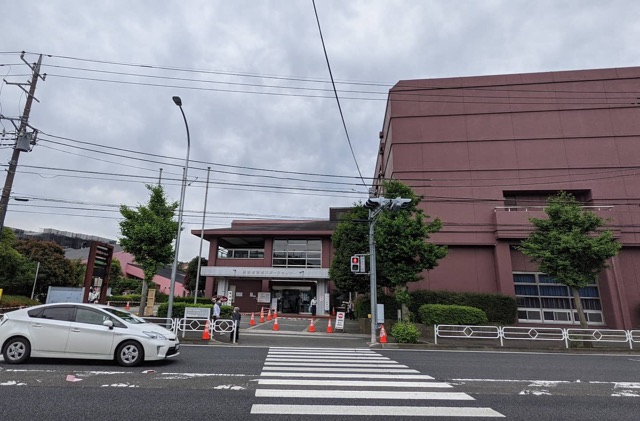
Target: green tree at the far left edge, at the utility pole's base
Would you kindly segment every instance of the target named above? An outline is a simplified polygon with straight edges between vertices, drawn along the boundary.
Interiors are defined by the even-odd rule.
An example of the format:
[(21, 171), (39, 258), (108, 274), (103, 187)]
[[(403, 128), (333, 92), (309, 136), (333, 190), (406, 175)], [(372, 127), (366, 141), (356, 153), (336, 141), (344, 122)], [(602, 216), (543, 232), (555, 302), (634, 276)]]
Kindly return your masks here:
[(5, 294), (29, 297), (37, 264), (20, 254), (15, 245), (15, 233), (11, 228), (4, 227), (0, 239), (0, 288)]

